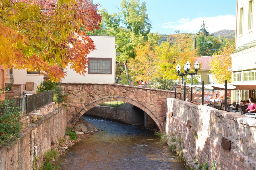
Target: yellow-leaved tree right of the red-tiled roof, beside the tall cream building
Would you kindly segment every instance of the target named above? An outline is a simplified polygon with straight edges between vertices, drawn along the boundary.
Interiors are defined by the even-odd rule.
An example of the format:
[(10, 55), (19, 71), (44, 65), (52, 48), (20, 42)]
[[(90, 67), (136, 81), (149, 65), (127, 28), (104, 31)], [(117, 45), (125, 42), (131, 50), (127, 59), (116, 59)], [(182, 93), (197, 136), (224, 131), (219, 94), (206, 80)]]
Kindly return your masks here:
[(231, 82), (231, 73), (228, 72), (228, 67), (231, 67), (231, 56), (235, 50), (234, 39), (228, 41), (224, 48), (218, 53), (213, 55), (213, 59), (210, 61), (210, 68), (212, 72), (212, 77), (217, 83), (224, 83), (225, 80), (228, 83)]

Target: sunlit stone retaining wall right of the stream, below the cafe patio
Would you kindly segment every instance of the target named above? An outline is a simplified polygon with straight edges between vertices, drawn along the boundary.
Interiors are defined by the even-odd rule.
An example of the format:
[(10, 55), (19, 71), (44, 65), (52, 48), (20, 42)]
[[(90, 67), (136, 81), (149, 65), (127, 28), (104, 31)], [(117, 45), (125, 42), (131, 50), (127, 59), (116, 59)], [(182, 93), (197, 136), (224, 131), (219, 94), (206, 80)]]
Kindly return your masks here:
[[(256, 168), (254, 118), (178, 99), (169, 98), (167, 103), (168, 144), (176, 143), (176, 146), (183, 148), (183, 158), (191, 168), (197, 169), (207, 159), (209, 166), (216, 160), (217, 169), (222, 170)], [(188, 120), (192, 122), (191, 128), (187, 127)], [(230, 150), (222, 148), (222, 137), (231, 140)], [(173, 143), (173, 139), (176, 142)]]

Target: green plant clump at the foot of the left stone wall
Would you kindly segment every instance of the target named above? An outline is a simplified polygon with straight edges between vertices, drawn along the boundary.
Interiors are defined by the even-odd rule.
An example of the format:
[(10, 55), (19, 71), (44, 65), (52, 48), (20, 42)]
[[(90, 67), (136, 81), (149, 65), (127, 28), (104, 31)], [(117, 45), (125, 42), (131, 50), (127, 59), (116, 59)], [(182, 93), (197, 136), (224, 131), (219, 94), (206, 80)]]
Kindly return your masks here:
[(44, 160), (41, 166), (41, 170), (55, 170), (57, 166), (53, 164), (53, 159), (57, 159), (59, 154), (56, 150), (49, 150), (48, 152), (44, 153)]

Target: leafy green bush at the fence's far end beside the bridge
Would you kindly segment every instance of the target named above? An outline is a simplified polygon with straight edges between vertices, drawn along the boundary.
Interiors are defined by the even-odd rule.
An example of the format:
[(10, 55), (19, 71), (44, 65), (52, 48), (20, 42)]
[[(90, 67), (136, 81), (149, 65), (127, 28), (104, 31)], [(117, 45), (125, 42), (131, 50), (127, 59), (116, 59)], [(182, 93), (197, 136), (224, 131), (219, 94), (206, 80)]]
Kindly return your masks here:
[(67, 102), (68, 94), (63, 94), (60, 82), (42, 81), (37, 86), (37, 93), (53, 90), (53, 101), (55, 103)]

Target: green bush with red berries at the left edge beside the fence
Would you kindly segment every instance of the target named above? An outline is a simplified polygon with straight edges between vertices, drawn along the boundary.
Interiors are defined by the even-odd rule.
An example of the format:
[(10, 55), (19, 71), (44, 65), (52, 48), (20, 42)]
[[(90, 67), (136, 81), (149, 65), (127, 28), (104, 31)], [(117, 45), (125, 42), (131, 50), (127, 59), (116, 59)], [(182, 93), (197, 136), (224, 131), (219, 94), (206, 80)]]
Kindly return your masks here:
[(20, 137), (22, 124), (19, 120), (19, 109), (9, 100), (2, 101), (0, 107), (3, 112), (0, 116), (0, 145), (10, 145)]

